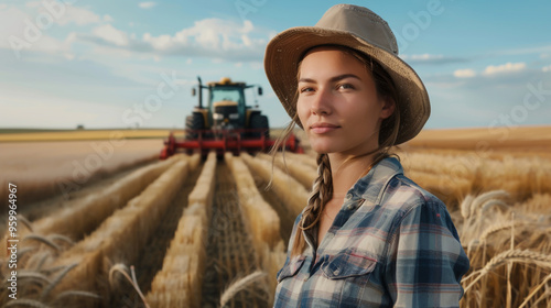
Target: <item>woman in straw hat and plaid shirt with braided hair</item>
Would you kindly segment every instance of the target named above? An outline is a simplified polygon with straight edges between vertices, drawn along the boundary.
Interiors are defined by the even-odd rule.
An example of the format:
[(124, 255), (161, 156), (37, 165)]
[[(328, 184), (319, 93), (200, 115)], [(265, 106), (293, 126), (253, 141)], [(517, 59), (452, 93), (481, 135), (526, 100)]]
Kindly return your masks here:
[(318, 153), (274, 306), (458, 307), (468, 258), (450, 213), (389, 155), (419, 133), (430, 103), (387, 23), (335, 6), (273, 37), (264, 68)]

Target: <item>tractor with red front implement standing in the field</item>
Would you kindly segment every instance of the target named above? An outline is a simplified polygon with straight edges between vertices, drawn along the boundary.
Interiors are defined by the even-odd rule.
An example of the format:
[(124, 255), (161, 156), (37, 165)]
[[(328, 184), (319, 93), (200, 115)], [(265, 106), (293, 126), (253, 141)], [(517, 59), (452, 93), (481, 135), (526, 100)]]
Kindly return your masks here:
[[(228, 77), (206, 86), (202, 84), (201, 77), (197, 80), (198, 86), (192, 89), (192, 95), (198, 96), (198, 105), (185, 119), (185, 138), (177, 140), (171, 132), (161, 151), (161, 160), (174, 155), (179, 150), (188, 154), (197, 152), (203, 156), (210, 151), (222, 156), (226, 152), (238, 155), (241, 151), (253, 154), (271, 150), (276, 142), (270, 138), (268, 117), (261, 114), (258, 107), (248, 106), (245, 98), (245, 91), (252, 88), (261, 96), (260, 86), (236, 82)], [(203, 107), (204, 89), (208, 95), (206, 107)], [(294, 134), (280, 146), (303, 153)]]

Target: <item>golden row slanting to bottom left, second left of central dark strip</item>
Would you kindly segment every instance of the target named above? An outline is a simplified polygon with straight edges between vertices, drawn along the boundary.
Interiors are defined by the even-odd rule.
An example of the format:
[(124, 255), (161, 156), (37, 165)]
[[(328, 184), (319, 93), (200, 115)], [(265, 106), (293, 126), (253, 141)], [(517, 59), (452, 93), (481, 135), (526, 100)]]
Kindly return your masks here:
[[(110, 216), (89, 238), (66, 251), (54, 266), (77, 264), (54, 289), (53, 294), (79, 289), (97, 293), (109, 302), (107, 275), (116, 263), (132, 264), (151, 231), (160, 223), (185, 176), (199, 163), (198, 155), (180, 156), (177, 162), (152, 183), (143, 193)], [(80, 300), (67, 300), (65, 305), (78, 305)], [(91, 306), (91, 302), (88, 305)]]

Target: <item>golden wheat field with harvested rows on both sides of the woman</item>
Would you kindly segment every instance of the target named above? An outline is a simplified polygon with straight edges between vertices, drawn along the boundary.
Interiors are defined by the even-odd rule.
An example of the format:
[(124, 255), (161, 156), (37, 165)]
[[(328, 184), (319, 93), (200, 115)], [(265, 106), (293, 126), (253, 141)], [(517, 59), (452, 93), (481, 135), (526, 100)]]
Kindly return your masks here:
[[(395, 152), (457, 227), (471, 260), (461, 307), (551, 307), (551, 128), (503, 136), (423, 131)], [(162, 140), (106, 142), (0, 143), (4, 226), (7, 183), (21, 188), (18, 299), (2, 255), (2, 307), (271, 306), (316, 175), (306, 144), (272, 168), (260, 153), (159, 162)], [(75, 170), (94, 155), (101, 165), (84, 182)], [(60, 179), (80, 183), (61, 191)]]

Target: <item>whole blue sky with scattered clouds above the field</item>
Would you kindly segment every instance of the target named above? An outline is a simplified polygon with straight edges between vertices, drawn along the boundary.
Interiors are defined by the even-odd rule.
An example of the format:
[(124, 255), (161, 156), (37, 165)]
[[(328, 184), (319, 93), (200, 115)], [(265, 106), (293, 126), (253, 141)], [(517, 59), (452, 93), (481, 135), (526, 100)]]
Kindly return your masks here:
[[(229, 76), (272, 127), (269, 40), (338, 1), (4, 0), (0, 128), (183, 128), (191, 88)], [(551, 2), (349, 1), (388, 21), (431, 98), (428, 129), (551, 124)]]

